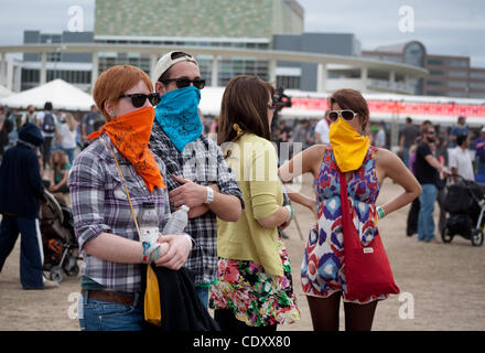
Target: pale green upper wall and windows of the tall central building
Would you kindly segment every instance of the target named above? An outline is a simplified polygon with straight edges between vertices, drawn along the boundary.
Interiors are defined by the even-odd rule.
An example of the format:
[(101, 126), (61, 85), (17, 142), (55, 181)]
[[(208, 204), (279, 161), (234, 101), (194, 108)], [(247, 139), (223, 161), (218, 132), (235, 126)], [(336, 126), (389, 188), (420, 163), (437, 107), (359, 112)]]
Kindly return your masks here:
[[(301, 34), (303, 8), (294, 0), (98, 0), (95, 42), (271, 49), (274, 34)], [(143, 20), (141, 20), (143, 19)], [(226, 86), (240, 74), (268, 81), (269, 62), (256, 57), (196, 55), (209, 86)], [(152, 58), (140, 53), (99, 53), (100, 72), (129, 63), (150, 72)], [(214, 63), (217, 61), (217, 63)], [(217, 72), (214, 72), (217, 69)]]

